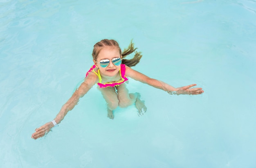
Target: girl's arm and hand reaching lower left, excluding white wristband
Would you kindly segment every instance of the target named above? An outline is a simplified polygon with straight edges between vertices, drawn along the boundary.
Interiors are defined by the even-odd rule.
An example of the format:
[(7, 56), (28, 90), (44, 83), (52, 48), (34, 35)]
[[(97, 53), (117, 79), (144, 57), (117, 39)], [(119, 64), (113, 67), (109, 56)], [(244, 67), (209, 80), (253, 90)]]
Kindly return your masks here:
[[(67, 112), (72, 110), (75, 105), (79, 102), (79, 98), (83, 97), (91, 88), (92, 86), (97, 83), (98, 81), (98, 76), (94, 73), (90, 73), (83, 83), (79, 86), (78, 89), (74, 92), (74, 94), (71, 96), (69, 100), (67, 100), (67, 103), (65, 103), (60, 112), (57, 114), (57, 116), (54, 118), (57, 124), (63, 120), (63, 118), (66, 116)], [(47, 122), (43, 126), (37, 128), (31, 138), (37, 139), (39, 137), (43, 137), (45, 134), (47, 134), (50, 129), (54, 127), (54, 124), (52, 122)]]

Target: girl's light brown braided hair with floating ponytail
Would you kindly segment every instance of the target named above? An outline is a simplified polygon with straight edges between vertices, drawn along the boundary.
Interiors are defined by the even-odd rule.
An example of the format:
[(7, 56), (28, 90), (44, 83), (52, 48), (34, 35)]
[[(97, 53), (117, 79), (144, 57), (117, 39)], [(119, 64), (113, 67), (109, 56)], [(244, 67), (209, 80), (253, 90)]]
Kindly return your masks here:
[[(122, 55), (122, 64), (127, 65), (128, 67), (132, 67), (135, 66), (139, 63), (139, 60), (141, 59), (142, 55), (141, 52), (137, 52), (135, 51), (137, 48), (134, 48), (134, 44), (130, 43), (130, 45), (128, 46), (128, 48), (125, 48), (123, 52), (121, 52), (121, 48), (119, 47), (119, 44), (117, 43), (117, 41), (113, 40), (113, 39), (103, 39), (99, 42), (97, 42), (94, 47), (93, 47), (93, 51), (92, 51), (92, 58), (94, 60), (97, 59), (99, 52), (101, 51), (101, 49), (105, 46), (113, 46), (113, 47), (117, 47), (120, 51), (120, 54)], [(132, 59), (124, 59), (127, 55), (130, 55), (132, 52), (135, 52), (135, 55)]]

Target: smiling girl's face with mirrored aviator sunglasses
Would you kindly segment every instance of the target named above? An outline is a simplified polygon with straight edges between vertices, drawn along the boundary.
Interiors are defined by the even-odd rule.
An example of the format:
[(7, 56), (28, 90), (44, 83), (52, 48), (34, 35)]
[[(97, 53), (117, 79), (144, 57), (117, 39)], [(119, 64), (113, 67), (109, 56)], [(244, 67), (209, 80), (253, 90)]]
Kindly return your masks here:
[[(121, 58), (119, 48), (106, 46), (101, 49), (97, 59), (93, 61), (96, 67), (100, 69), (102, 75), (115, 76), (117, 73), (119, 73), (120, 70), (121, 60), (118, 58)], [(104, 67), (104, 65), (102, 67), (100, 64), (101, 61), (108, 61), (104, 59), (110, 60), (108, 65), (105, 63), (106, 67)]]

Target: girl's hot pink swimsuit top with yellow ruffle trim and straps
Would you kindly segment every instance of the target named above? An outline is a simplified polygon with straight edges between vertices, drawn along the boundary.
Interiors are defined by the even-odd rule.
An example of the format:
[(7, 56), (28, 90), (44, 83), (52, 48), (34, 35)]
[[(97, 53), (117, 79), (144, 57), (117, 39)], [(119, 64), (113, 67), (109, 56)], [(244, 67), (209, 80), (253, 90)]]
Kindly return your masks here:
[(93, 65), (90, 70), (86, 73), (85, 75), (85, 78), (88, 76), (88, 74), (90, 72), (94, 72), (95, 74), (97, 74), (97, 76), (99, 77), (99, 83), (97, 83), (99, 85), (99, 87), (101, 88), (104, 88), (104, 87), (115, 87), (115, 86), (119, 86), (120, 84), (124, 83), (125, 81), (127, 81), (128, 79), (126, 78), (125, 76), (125, 64), (121, 64), (121, 68), (119, 70), (119, 73), (120, 73), (120, 77), (121, 77), (121, 80), (118, 81), (118, 82), (115, 82), (115, 83), (112, 83), (112, 82), (107, 82), (107, 83), (101, 83), (102, 79), (101, 79), (101, 74), (99, 73), (99, 70), (98, 70), (98, 73), (94, 71), (94, 68), (96, 68), (95, 65)]

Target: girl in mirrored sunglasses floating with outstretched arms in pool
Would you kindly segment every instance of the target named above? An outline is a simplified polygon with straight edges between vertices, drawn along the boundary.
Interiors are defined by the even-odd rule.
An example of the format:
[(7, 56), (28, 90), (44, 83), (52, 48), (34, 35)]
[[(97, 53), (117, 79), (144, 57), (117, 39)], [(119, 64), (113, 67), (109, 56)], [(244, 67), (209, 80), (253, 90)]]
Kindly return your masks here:
[[(121, 52), (119, 44), (115, 40), (103, 39), (94, 45), (92, 57), (94, 65), (86, 73), (83, 83), (74, 92), (67, 103), (65, 103), (56, 118), (52, 122), (47, 122), (43, 126), (37, 128), (32, 138), (35, 140), (47, 134), (52, 127), (59, 124), (66, 116), (67, 112), (72, 110), (78, 103), (79, 98), (83, 97), (93, 85), (97, 83), (103, 98), (107, 103), (108, 118), (113, 119), (113, 110), (119, 107), (127, 107), (135, 103), (139, 114), (146, 112), (144, 101), (140, 100), (139, 93), (129, 94), (126, 88), (127, 77), (146, 83), (150, 86), (162, 89), (169, 94), (202, 94), (202, 88), (190, 88), (195, 86), (188, 85), (175, 88), (162, 81), (151, 79), (148, 76), (141, 74), (130, 67), (137, 65), (142, 55), (141, 52), (136, 52), (133, 43), (130, 43), (128, 49)], [(132, 59), (123, 59), (127, 55), (135, 52)]]

